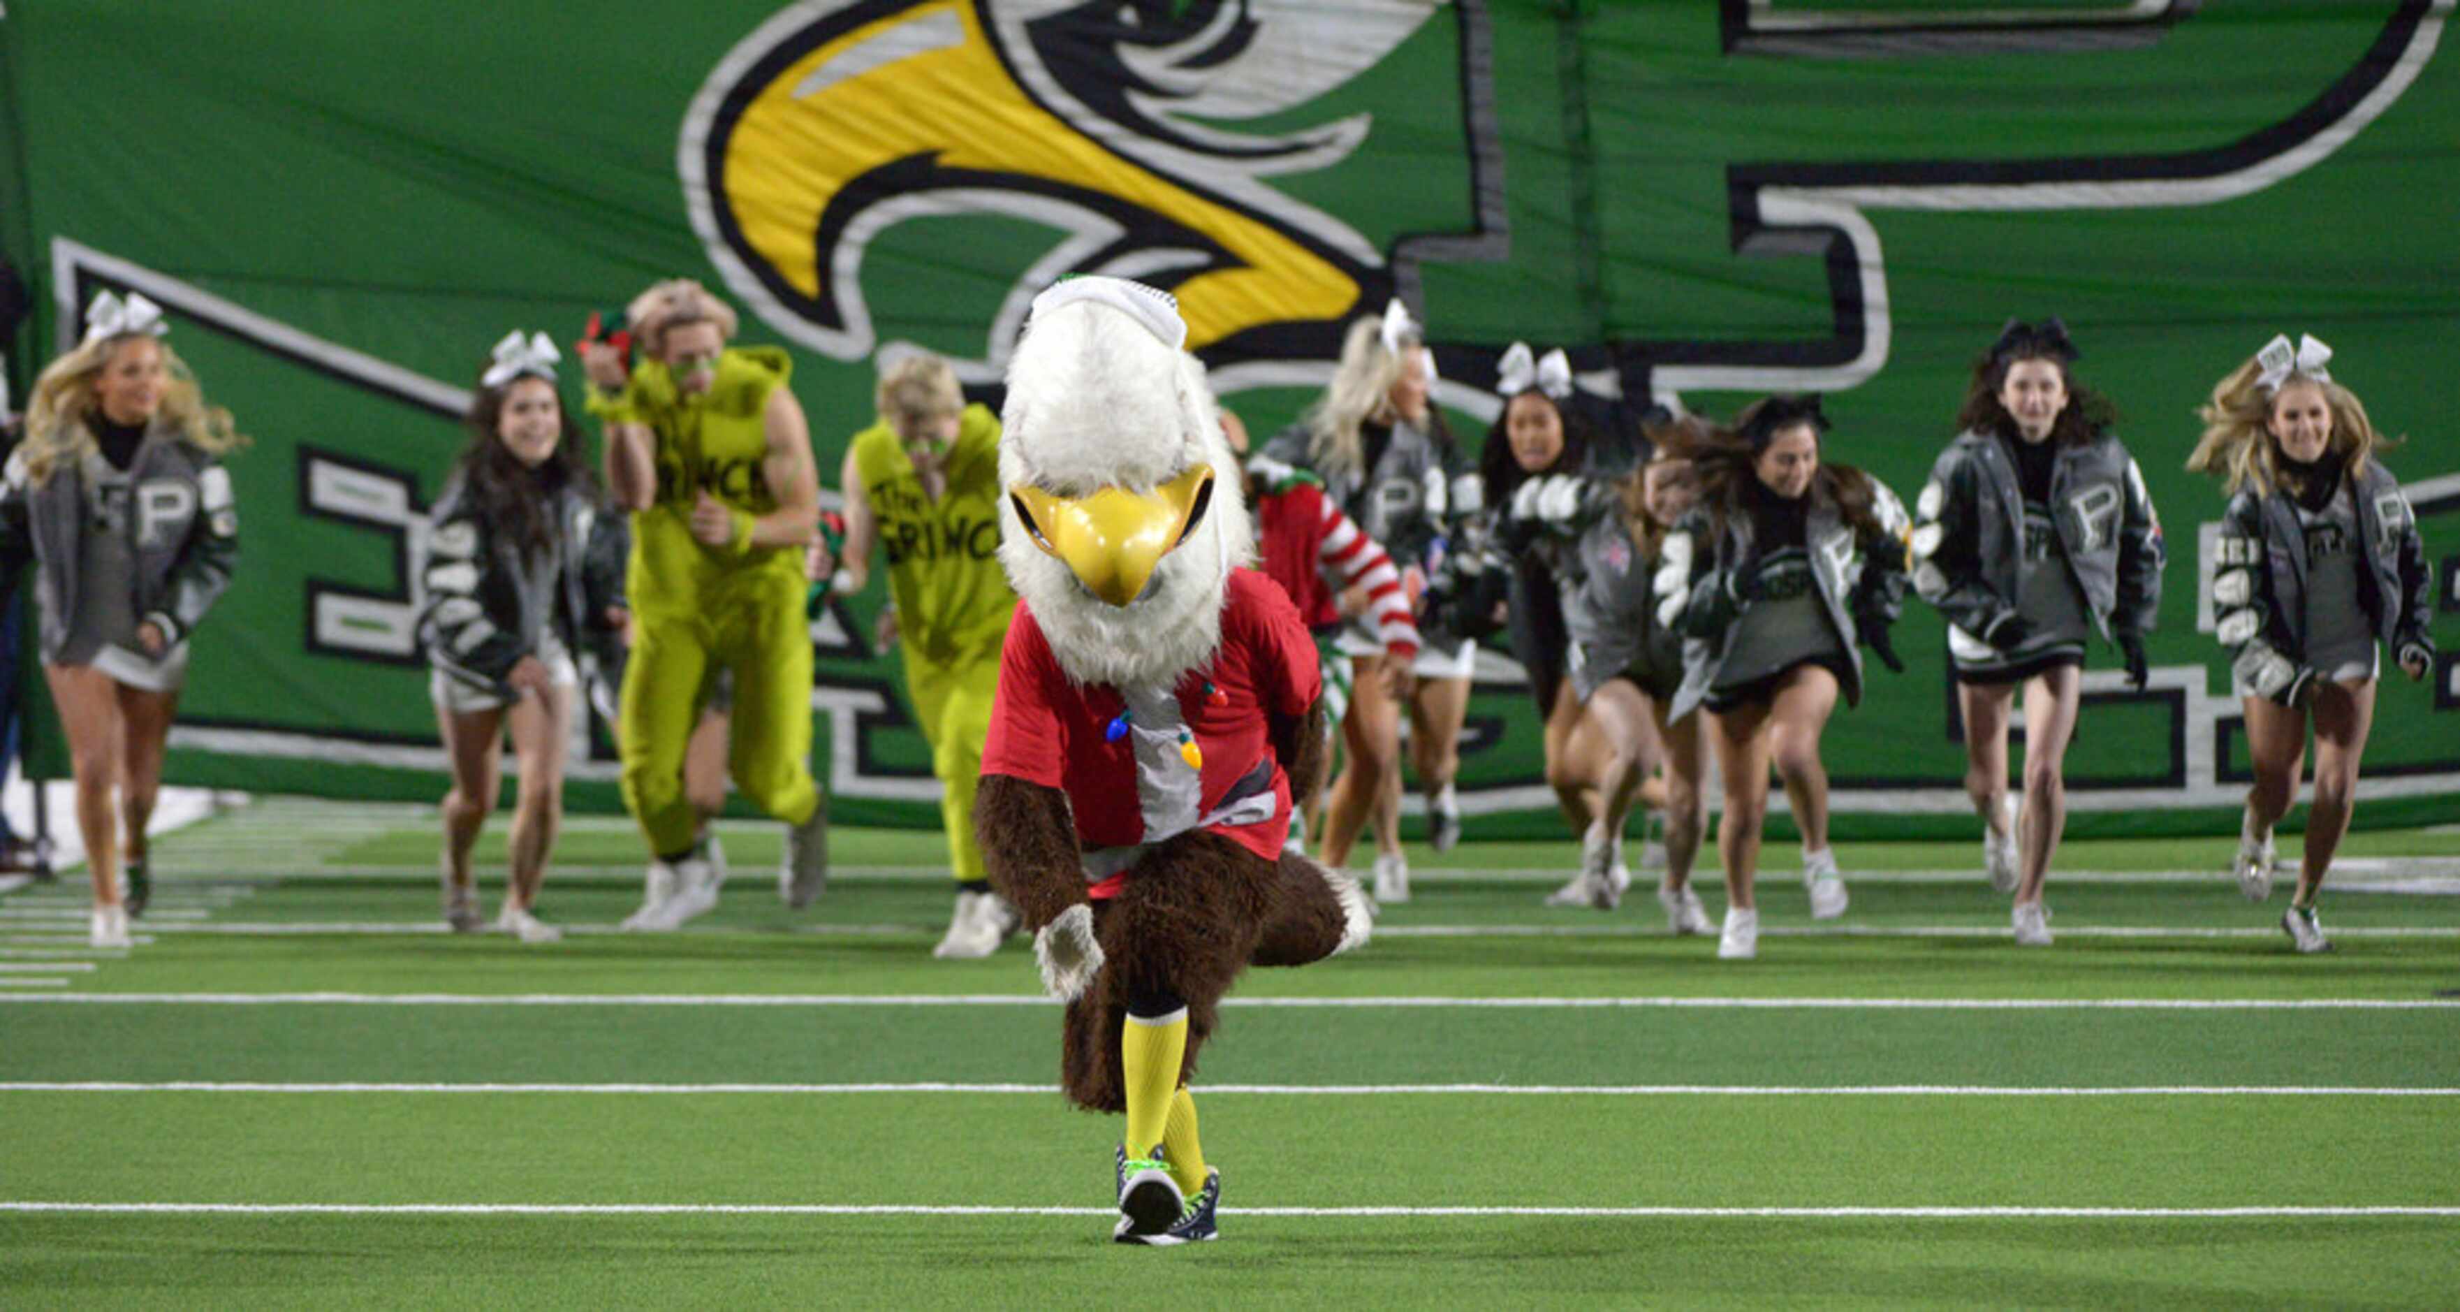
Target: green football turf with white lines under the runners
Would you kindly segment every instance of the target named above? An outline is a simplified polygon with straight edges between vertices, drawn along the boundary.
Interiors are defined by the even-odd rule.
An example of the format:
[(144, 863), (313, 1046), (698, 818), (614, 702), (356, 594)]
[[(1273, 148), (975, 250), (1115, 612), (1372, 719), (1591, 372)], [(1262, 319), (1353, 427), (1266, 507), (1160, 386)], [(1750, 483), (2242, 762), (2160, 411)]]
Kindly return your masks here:
[[(433, 933), (430, 825), (273, 802), (172, 834), (125, 955), (54, 955), (81, 938), (76, 876), (0, 898), (0, 1204), (98, 1209), (0, 1209), (0, 1305), (2428, 1307), (2460, 1287), (2450, 832), (2352, 839), (2327, 958), (2288, 953), (2283, 894), (2241, 901), (2209, 842), (2076, 844), (2049, 950), (1951, 874), (1973, 844), (1847, 847), (1845, 921), (1813, 926), (1776, 871), (1754, 962), (1668, 938), (1646, 874), (1614, 913), (1540, 906), (1569, 842), (1419, 849), (1375, 943), (1232, 994), (1198, 1078), (1223, 1241), (1159, 1253), (1107, 1238), (1119, 1122), (1050, 1088), (1060, 1017), (1031, 950), (927, 958), (935, 839), (839, 834), (844, 874), (790, 913), (775, 837), (731, 827), (726, 903), (642, 938), (605, 933), (637, 898), (632, 834), (576, 822), (541, 898), (576, 933), (522, 948)], [(482, 864), (490, 903), (497, 884)], [(1715, 916), (1715, 866), (1702, 891)], [(47, 985), (47, 962), (93, 967)], [(64, 994), (121, 1002), (42, 1002)], [(403, 1206), (430, 1211), (376, 1211)], [(647, 1211), (433, 1211), (455, 1206)]]

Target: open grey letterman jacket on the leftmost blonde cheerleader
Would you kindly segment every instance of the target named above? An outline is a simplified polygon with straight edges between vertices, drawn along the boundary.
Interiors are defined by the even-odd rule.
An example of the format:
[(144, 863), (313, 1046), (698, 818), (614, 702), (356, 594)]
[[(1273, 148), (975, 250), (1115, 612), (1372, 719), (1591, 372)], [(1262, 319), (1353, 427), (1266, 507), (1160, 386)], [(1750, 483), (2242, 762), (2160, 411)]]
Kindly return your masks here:
[[(79, 546), (93, 524), (84, 482), (76, 460), (62, 460), (34, 485), (22, 450), (10, 455), (0, 480), (0, 576), (15, 581), (20, 566), (34, 564), (42, 660), (59, 655), (76, 618)], [(177, 426), (155, 421), (128, 465), (128, 487), (135, 613), (177, 647), (231, 586), (239, 564), (231, 475)]]

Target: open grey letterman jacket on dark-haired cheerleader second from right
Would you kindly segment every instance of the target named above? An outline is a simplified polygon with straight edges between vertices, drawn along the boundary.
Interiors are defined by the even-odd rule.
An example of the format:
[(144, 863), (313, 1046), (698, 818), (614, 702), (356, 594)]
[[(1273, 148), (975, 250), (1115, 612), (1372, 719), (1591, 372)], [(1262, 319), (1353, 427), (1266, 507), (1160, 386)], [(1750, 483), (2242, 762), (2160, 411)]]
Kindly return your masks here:
[[(2160, 613), (2162, 539), (2145, 475), (2103, 433), (2061, 446), (2049, 475), (2059, 546), (2101, 638), (2152, 633)], [(1931, 465), (1914, 500), (1914, 591), (1963, 635), (1961, 657), (1988, 652), (1990, 630), (2017, 613), (2025, 559), (2025, 492), (2015, 463), (1988, 433), (1963, 433)]]

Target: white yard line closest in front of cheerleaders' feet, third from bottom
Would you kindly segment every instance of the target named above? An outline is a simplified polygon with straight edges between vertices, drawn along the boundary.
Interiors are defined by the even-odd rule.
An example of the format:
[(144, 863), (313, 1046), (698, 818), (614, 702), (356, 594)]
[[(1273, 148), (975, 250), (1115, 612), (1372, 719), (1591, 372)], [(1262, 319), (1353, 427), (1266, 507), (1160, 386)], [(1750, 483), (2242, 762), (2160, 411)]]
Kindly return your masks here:
[[(37, 1002), (37, 999), (22, 999)], [(39, 1002), (145, 1007), (1058, 1007), (1041, 994), (588, 992), (81, 992)], [(2460, 997), (1228, 997), (1296, 1009), (1820, 1009), (1820, 1012), (2450, 1012)]]

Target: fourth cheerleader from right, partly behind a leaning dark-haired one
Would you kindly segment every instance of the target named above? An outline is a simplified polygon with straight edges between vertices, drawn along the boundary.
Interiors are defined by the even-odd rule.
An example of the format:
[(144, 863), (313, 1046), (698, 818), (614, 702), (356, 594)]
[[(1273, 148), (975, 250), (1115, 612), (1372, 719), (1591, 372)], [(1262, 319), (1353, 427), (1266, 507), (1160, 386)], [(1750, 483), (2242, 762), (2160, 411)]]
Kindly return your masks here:
[[(1678, 935), (1712, 930), (1690, 886), (1707, 820), (1700, 793), (1705, 748), (1697, 716), (1668, 719), (1683, 684), (1683, 640), (1658, 623), (1651, 586), (1668, 529), (1697, 500), (1690, 455), (1705, 433), (1700, 421), (1648, 428), (1648, 463), (1609, 485), (1606, 512), (1579, 527), (1572, 569), (1562, 578), (1569, 635), (1565, 697), (1597, 729), (1606, 761), (1599, 815), (1582, 839), (1579, 876), (1547, 901), (1579, 898), (1599, 911), (1616, 906), (1631, 876), (1614, 862), (1614, 842), (1641, 800), (1641, 783), (1663, 766), (1665, 879), (1658, 906), (1665, 908), (1665, 928)], [(1540, 490), (1538, 500), (1560, 505), (1567, 497)]]

